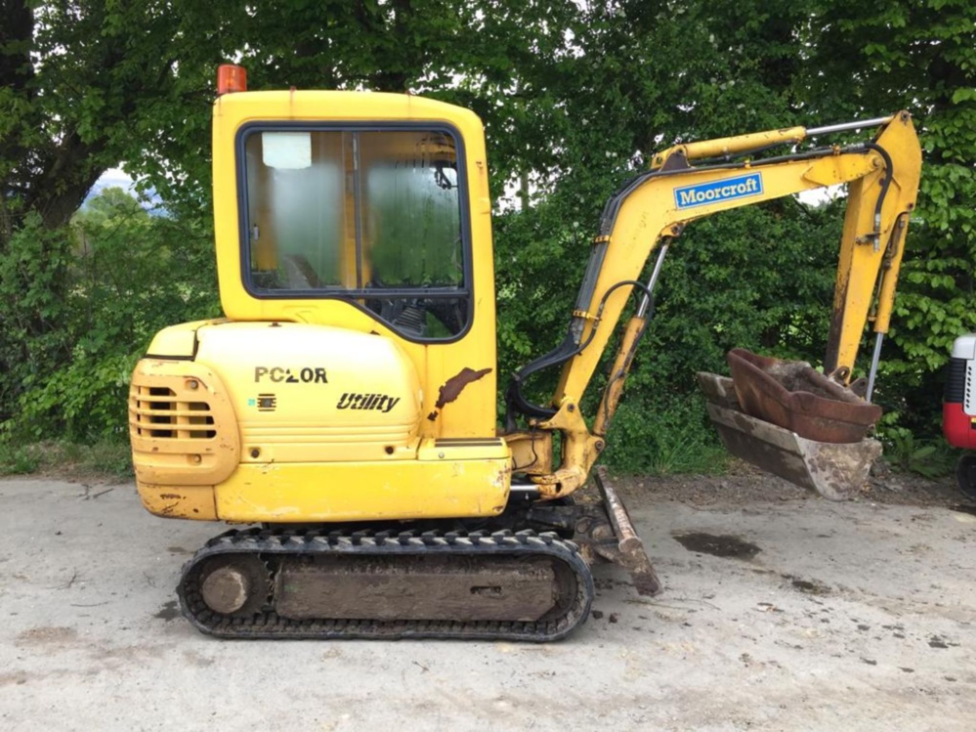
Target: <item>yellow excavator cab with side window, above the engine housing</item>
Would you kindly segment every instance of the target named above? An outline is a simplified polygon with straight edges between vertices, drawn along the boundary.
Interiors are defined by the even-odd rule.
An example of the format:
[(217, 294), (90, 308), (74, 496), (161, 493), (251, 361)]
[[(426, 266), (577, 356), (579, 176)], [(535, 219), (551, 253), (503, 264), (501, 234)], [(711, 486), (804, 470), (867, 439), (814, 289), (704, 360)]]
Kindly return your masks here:
[(422, 436), (494, 437), (491, 205), (473, 113), (402, 95), (224, 95), (214, 195), (229, 318), (386, 336), (417, 369)]

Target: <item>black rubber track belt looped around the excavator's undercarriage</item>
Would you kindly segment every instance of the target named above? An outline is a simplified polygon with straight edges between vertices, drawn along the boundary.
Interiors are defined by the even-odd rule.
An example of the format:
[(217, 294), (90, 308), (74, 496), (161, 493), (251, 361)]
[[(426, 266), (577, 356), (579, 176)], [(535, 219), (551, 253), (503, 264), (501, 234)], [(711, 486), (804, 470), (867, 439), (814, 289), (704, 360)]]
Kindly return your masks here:
[[(576, 596), (559, 617), (535, 622), (514, 621), (389, 621), (289, 620), (273, 611), (251, 618), (213, 612), (200, 595), (201, 562), (215, 555), (247, 553), (269, 555), (358, 554), (397, 556), (458, 554), (464, 556), (549, 556), (562, 562), (576, 578)], [(222, 638), (461, 638), (471, 640), (558, 640), (586, 622), (593, 598), (590, 567), (578, 548), (553, 533), (531, 530), (486, 532), (426, 531), (424, 533), (357, 531), (290, 532), (248, 529), (228, 531), (211, 539), (183, 566), (177, 588), (183, 615), (198, 630)]]

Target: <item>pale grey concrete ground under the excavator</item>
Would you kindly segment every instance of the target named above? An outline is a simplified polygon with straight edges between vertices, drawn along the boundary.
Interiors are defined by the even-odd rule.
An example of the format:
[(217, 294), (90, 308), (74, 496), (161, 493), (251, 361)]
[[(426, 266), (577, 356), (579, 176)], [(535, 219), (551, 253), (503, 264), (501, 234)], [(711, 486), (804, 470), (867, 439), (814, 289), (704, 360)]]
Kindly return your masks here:
[(976, 728), (973, 515), (630, 508), (665, 592), (604, 568), (600, 617), (557, 644), (219, 641), (173, 591), (218, 526), (152, 517), (132, 486), (0, 481), (0, 729)]

